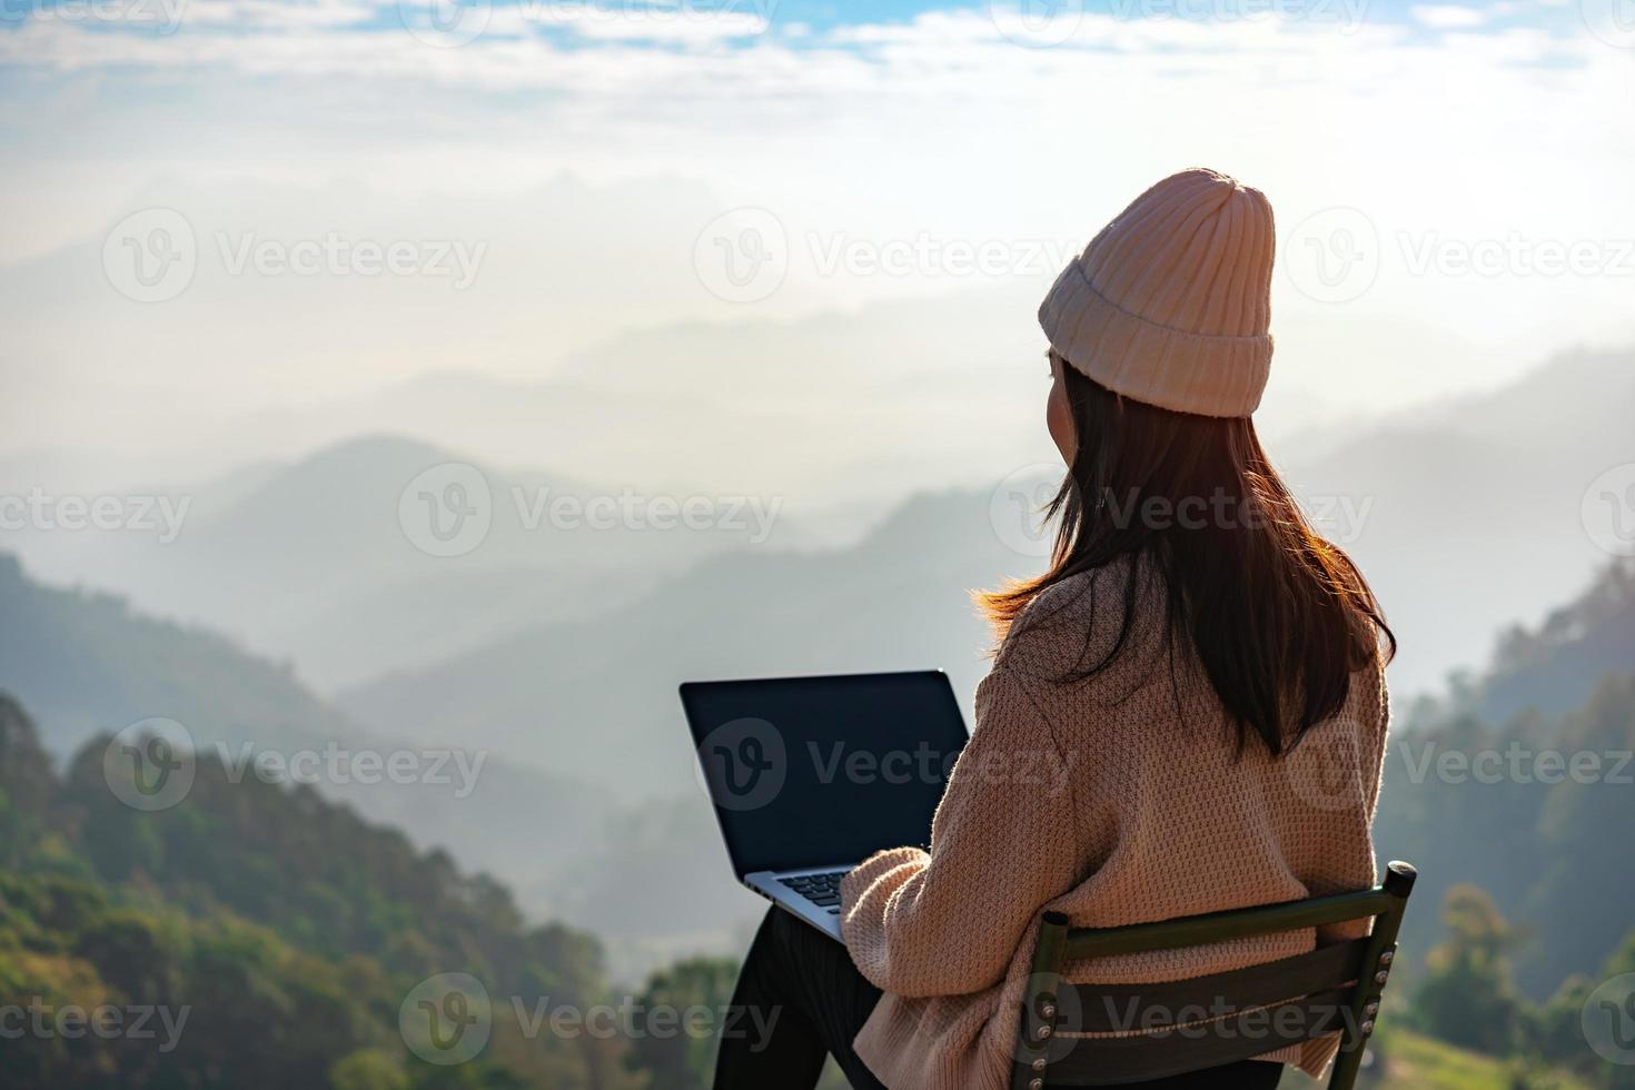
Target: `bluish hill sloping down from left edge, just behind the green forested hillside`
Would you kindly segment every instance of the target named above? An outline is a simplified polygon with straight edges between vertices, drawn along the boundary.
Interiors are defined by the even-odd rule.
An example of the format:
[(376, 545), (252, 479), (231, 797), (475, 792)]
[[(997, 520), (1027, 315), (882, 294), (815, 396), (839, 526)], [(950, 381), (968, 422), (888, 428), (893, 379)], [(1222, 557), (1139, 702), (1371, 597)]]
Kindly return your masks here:
[[(150, 717), (173, 719), (198, 745), (224, 744), (234, 755), (245, 745), (284, 757), (327, 747), (430, 753), (420, 781), (325, 776), (320, 791), (371, 820), (404, 827), (423, 847), (446, 848), (463, 866), (533, 876), (535, 912), (548, 907), (543, 876), (600, 829), (598, 789), (497, 753), (482, 752), (476, 768), (484, 747), (458, 729), (412, 744), (391, 730), (365, 730), (288, 668), (214, 632), (155, 621), (113, 595), (41, 587), (3, 554), (0, 616), (0, 690), (38, 709), (43, 742), (59, 758), (92, 735)], [(433, 750), (466, 757), (474, 784), (451, 763), (433, 770)]]

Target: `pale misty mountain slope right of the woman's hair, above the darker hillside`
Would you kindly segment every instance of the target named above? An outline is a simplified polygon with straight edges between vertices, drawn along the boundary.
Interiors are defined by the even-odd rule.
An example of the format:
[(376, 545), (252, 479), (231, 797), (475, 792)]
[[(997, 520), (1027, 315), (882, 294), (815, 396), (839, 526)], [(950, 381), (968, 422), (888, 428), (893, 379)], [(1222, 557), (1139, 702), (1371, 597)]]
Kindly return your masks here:
[(1398, 693), (1481, 662), (1494, 632), (1534, 623), (1606, 562), (1584, 495), (1635, 462), (1632, 415), (1635, 353), (1579, 353), (1285, 466), (1403, 637)]

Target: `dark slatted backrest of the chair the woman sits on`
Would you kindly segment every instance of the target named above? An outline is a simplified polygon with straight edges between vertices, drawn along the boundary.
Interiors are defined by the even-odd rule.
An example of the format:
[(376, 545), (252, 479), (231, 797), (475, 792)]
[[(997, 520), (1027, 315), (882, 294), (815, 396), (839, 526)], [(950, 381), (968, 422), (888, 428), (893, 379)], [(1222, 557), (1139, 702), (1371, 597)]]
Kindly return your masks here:
[[(1166, 1079), (1341, 1034), (1329, 1090), (1351, 1090), (1380, 1015), (1416, 871), (1390, 863), (1375, 889), (1158, 923), (1073, 928), (1046, 912), (1022, 1000), (1012, 1090)], [(1068, 984), (1063, 964), (1372, 918), (1365, 938), (1164, 984)], [(1141, 1030), (1140, 1034), (1130, 1031)], [(1082, 1034), (1123, 1033), (1086, 1041)]]

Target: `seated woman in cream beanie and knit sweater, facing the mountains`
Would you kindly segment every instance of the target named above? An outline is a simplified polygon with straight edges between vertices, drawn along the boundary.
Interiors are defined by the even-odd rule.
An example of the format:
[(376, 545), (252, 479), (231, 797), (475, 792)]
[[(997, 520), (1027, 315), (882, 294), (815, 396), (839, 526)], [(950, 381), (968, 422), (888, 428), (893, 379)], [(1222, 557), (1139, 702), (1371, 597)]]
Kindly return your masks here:
[[(1045, 417), (1068, 476), (1050, 570), (983, 596), (1001, 642), (930, 851), (845, 878), (845, 948), (767, 915), (734, 1003), (780, 1018), (770, 1039), (723, 1044), (718, 1088), (811, 1087), (827, 1052), (853, 1087), (1002, 1090), (1043, 910), (1117, 927), (1373, 884), (1395, 639), (1249, 420), (1272, 358), (1272, 239), (1264, 194), (1187, 170), (1051, 288)], [(1024, 766), (1025, 784), (1002, 775)], [(1066, 976), (1177, 981), (1315, 941)], [(1283, 1062), (1318, 1074), (1333, 1052), (1331, 1038), (1143, 1085), (1275, 1087)]]

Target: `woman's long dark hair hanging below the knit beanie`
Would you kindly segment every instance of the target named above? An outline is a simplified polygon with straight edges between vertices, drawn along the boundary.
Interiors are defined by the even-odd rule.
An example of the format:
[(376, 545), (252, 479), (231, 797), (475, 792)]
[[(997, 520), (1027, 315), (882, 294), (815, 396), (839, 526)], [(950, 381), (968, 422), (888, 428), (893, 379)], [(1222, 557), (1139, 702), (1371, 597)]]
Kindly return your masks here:
[[(1351, 677), (1396, 654), (1362, 572), (1306, 521), (1248, 417), (1171, 412), (1113, 394), (1061, 356), (1076, 449), (1046, 508), (1059, 520), (1050, 570), (979, 595), (1001, 639), (1043, 590), (1120, 557), (1166, 588), (1166, 639), (1203, 663), (1239, 750), (1277, 755), (1341, 709)], [(1125, 583), (1109, 667), (1130, 637), (1138, 580)], [(1089, 637), (1087, 637), (1089, 639)]]

